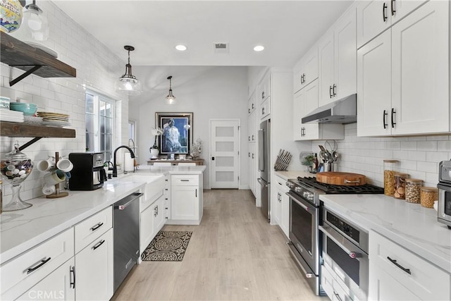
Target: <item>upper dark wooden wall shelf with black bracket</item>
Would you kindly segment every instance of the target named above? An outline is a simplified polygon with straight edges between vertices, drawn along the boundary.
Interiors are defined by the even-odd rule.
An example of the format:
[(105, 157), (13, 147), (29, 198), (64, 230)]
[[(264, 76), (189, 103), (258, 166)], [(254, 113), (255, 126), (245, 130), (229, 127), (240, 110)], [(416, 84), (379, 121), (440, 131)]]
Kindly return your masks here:
[(11, 80), (10, 86), (32, 73), (42, 78), (75, 78), (77, 76), (75, 68), (58, 61), (41, 49), (31, 47), (5, 32), (1, 32), (0, 37), (1, 62), (25, 71), (23, 75)]

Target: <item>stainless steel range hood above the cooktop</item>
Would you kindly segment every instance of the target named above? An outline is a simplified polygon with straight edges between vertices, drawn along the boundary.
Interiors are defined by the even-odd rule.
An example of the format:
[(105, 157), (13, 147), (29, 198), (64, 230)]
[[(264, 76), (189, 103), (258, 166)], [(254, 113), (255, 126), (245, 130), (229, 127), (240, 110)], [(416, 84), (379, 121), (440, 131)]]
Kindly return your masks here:
[(351, 94), (318, 109), (302, 118), (302, 123), (354, 123), (357, 122), (357, 94)]

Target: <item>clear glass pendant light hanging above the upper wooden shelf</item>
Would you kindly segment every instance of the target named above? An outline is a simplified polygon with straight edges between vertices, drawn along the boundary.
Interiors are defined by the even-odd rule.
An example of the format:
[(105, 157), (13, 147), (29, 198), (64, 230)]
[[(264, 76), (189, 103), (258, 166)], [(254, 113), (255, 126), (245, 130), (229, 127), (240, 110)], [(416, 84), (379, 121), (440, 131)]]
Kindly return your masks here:
[(25, 6), (27, 9), (23, 12), (21, 37), (27, 42), (46, 41), (49, 38), (49, 21), (42, 13), (42, 9), (33, 0), (32, 4)]

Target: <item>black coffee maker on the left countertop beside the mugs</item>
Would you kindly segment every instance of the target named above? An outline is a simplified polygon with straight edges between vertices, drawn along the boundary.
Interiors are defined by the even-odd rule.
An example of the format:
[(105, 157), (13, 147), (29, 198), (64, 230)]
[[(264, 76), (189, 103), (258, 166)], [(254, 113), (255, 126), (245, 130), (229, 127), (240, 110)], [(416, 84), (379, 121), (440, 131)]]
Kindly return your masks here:
[(106, 181), (104, 153), (72, 152), (69, 160), (73, 164), (70, 171), (69, 190), (95, 190)]

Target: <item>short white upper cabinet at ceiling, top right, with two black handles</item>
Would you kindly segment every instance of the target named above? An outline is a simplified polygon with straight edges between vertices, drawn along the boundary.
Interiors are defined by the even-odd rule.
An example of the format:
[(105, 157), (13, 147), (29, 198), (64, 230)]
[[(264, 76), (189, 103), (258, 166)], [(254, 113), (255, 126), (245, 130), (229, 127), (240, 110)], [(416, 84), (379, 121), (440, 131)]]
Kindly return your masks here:
[(428, 0), (358, 1), (357, 47), (362, 47)]

